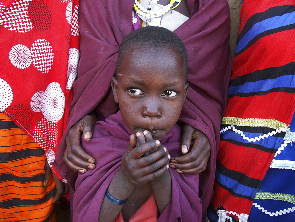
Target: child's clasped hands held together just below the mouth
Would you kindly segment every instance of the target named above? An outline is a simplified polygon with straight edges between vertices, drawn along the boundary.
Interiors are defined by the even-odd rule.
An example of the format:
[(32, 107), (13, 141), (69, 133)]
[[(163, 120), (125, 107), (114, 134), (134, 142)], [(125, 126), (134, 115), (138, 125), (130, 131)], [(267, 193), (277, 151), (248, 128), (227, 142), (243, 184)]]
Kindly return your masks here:
[(137, 132), (130, 136), (120, 171), (127, 183), (145, 184), (163, 175), (168, 169), (169, 160), (167, 149), (160, 145), (159, 140), (153, 140), (150, 132)]

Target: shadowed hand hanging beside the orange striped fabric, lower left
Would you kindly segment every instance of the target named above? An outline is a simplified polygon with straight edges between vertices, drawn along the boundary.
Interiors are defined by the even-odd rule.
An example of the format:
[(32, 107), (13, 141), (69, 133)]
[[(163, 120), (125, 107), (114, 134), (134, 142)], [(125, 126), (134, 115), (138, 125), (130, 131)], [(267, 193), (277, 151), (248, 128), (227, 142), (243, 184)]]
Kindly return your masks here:
[[(51, 174), (51, 168), (47, 162), (47, 160), (45, 160), (45, 177), (43, 180), (43, 187), (45, 187), (50, 179), (50, 174)], [(55, 186), (56, 186), (56, 191), (55, 191), (55, 195), (53, 197), (52, 202), (55, 203), (56, 201), (59, 200), (60, 197), (62, 197), (63, 195), (65, 195), (67, 192), (69, 192), (69, 185), (60, 181), (57, 176), (55, 176), (55, 174), (53, 173), (53, 177), (55, 180)]]

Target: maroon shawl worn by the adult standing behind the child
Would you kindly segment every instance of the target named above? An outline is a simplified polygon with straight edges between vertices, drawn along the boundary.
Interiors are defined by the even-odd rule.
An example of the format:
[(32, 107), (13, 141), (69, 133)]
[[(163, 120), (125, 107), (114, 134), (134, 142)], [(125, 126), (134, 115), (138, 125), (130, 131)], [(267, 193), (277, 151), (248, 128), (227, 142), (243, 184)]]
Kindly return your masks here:
[[(189, 64), (190, 88), (180, 120), (203, 132), (211, 144), (207, 169), (200, 174), (202, 183), (199, 197), (204, 212), (213, 192), (220, 121), (226, 105), (231, 72), (230, 14), (227, 0), (187, 2), (191, 18), (174, 31), (186, 46)], [(96, 107), (104, 117), (114, 114), (117, 109), (110, 83), (119, 45), (132, 32), (133, 5), (133, 0), (80, 2), (81, 58), (78, 79), (73, 84), (74, 98), (68, 126), (55, 158), (55, 166), (60, 174), (67, 174), (68, 178), (77, 176), (62, 162), (69, 129)], [(73, 184), (69, 184), (73, 187)]]

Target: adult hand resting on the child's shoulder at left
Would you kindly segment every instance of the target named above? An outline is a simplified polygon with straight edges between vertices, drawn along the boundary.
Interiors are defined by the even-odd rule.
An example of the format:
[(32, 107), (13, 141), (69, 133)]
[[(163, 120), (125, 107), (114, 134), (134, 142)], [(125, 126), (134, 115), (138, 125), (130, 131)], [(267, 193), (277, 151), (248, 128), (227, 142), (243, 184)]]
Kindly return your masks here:
[(67, 147), (63, 156), (63, 161), (65, 161), (73, 171), (85, 173), (87, 168), (95, 168), (95, 159), (82, 149), (80, 140), (82, 133), (84, 140), (91, 140), (96, 121), (98, 121), (96, 116), (84, 116), (70, 129), (66, 137)]

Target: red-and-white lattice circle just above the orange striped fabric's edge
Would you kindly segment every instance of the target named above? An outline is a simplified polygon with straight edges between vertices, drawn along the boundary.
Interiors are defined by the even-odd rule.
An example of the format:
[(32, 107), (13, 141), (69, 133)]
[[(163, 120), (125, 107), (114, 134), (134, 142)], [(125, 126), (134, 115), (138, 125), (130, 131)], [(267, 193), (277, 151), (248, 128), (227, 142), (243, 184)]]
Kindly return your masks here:
[(57, 144), (57, 135), (57, 124), (44, 118), (36, 125), (33, 132), (35, 141), (43, 150), (45, 150), (45, 154), (46, 150), (55, 148)]

